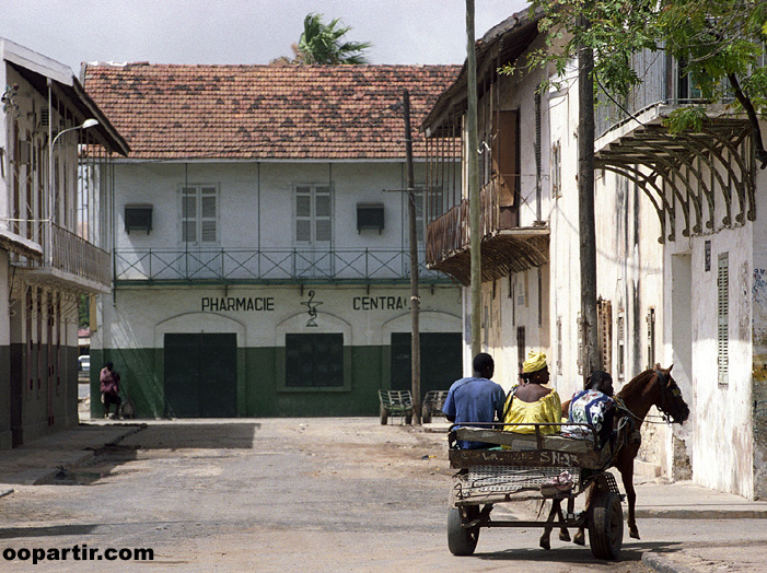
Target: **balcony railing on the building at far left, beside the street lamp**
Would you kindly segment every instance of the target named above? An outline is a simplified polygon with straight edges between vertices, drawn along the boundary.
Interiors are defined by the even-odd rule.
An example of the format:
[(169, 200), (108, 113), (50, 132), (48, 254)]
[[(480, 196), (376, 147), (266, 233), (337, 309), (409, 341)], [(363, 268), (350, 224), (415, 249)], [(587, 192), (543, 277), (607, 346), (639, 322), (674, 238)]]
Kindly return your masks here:
[(12, 255), (13, 266), (30, 269), (59, 271), (60, 279), (81, 283), (95, 282), (108, 288), (111, 284), (109, 254), (89, 243), (71, 231), (51, 223), (40, 223), (33, 241), (43, 247), (42, 260), (22, 255)]

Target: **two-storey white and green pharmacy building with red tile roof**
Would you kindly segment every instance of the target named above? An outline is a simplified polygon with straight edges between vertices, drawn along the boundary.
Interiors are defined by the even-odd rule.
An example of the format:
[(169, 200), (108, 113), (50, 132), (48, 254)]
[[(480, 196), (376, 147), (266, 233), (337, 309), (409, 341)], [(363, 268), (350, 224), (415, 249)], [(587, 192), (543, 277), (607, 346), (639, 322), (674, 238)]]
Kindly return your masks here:
[[(400, 102), (408, 89), (420, 121), (457, 70), (84, 67), (131, 147), (115, 171), (94, 371), (113, 361), (149, 418), (374, 416), (379, 388), (409, 389)], [(461, 375), (461, 294), (426, 268), (417, 200), (426, 391)]]

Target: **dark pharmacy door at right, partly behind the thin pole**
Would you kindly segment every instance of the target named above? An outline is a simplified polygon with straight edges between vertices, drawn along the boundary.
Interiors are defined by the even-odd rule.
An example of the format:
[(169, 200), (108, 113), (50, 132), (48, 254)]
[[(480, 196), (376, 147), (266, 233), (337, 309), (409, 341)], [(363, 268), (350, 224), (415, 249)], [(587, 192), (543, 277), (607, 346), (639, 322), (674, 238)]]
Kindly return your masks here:
[[(446, 390), (463, 372), (461, 332), (421, 332), (421, 398)], [(392, 332), (392, 389), (409, 390), (410, 332)]]

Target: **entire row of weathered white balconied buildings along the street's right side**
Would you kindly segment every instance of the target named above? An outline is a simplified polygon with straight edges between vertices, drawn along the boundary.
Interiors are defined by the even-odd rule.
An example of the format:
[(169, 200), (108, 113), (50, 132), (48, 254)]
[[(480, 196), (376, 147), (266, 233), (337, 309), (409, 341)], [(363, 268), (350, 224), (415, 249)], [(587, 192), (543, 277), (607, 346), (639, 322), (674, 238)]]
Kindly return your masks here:
[[(549, 359), (565, 396), (583, 379), (574, 68), (527, 70), (542, 47), (527, 11), (477, 43), (483, 211), (483, 346), (507, 387), (531, 349)], [(498, 70), (512, 63), (514, 73)], [(641, 458), (664, 476), (744, 496), (767, 494), (767, 185), (751, 127), (709, 106), (700, 132), (671, 137), (662, 119), (694, 96), (672, 60), (638, 55), (644, 83), (626, 108), (597, 107), (595, 173), (600, 354), (618, 390), (642, 370), (674, 364), (692, 409), (673, 429), (643, 426)], [(524, 73), (523, 73), (524, 72)], [(559, 80), (546, 91), (547, 79)], [(469, 283), (466, 73), (423, 122), (427, 183), (451, 189), (427, 203), (429, 268)], [(763, 124), (764, 127), (764, 124)], [(445, 139), (446, 138), (446, 139)], [(433, 200), (432, 200), (433, 199)], [(467, 289), (464, 300), (468, 301)], [(465, 329), (469, 306), (464, 305)], [(469, 356), (467, 350), (464, 360)]]

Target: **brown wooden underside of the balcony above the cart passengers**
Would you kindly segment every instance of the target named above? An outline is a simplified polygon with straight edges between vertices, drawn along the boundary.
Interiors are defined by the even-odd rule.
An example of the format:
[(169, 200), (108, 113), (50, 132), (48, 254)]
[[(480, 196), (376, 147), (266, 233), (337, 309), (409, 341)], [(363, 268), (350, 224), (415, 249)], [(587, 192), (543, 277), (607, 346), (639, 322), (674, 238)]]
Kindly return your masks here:
[[(481, 280), (497, 280), (513, 272), (542, 267), (549, 260), (547, 227), (521, 227), (498, 231), (481, 242)], [(448, 253), (441, 260), (429, 265), (455, 278), (464, 286), (470, 284), (472, 252), (469, 247)]]

